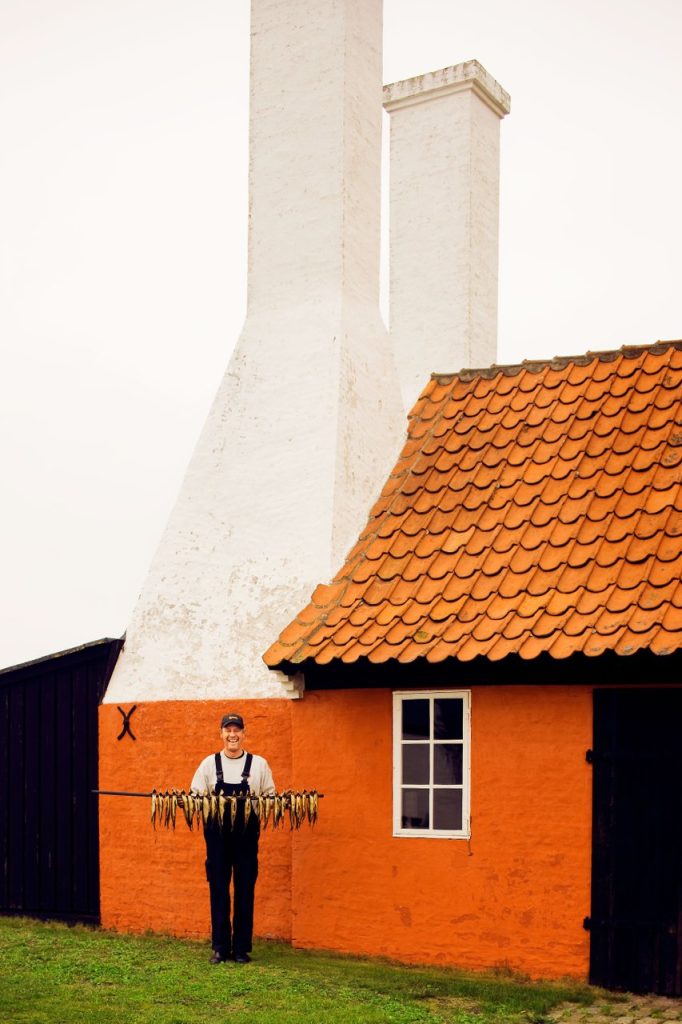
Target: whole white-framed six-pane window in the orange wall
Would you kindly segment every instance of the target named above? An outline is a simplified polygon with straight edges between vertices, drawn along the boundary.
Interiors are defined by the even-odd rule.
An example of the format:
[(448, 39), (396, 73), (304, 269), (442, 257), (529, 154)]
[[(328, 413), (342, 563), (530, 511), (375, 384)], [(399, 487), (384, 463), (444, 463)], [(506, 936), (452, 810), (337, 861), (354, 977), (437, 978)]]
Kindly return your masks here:
[(393, 694), (393, 835), (468, 839), (471, 694)]

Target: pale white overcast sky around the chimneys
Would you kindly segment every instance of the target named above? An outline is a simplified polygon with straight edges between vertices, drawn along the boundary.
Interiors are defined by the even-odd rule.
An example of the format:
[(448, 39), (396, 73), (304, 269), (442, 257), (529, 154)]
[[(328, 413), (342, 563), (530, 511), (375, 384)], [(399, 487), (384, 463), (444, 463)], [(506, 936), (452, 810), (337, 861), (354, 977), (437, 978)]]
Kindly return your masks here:
[[(384, 23), (385, 81), (511, 93), (499, 361), (682, 337), (681, 0)], [(242, 326), (248, 49), (248, 0), (0, 0), (0, 667), (126, 628)]]

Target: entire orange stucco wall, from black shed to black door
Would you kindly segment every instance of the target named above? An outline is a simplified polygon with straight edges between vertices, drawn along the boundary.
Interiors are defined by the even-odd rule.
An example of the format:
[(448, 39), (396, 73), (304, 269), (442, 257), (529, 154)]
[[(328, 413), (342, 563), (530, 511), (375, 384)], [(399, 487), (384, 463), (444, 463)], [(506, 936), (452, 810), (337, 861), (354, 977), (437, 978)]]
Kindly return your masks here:
[[(587, 977), (590, 687), (473, 689), (470, 841), (392, 837), (390, 690), (235, 708), (279, 788), (325, 794), (314, 831), (263, 837), (257, 934), (404, 962)], [(186, 786), (217, 749), (222, 711), (142, 705), (133, 743), (116, 740), (121, 716), (104, 706), (100, 787)], [(146, 801), (102, 797), (100, 808), (104, 926), (208, 935), (203, 839), (184, 825), (154, 833)]]

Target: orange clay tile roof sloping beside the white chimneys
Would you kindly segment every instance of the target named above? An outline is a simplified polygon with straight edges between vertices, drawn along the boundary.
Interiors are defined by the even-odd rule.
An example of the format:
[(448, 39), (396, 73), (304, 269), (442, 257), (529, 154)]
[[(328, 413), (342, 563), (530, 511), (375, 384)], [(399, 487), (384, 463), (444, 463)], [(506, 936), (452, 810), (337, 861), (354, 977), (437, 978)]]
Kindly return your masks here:
[(682, 647), (682, 342), (433, 376), (268, 666)]

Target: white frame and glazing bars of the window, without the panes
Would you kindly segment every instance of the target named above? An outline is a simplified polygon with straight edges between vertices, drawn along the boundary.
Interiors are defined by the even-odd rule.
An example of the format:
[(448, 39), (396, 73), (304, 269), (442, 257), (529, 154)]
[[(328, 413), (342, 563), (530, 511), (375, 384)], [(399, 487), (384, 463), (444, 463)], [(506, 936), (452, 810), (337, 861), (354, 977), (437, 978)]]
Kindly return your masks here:
[[(430, 728), (433, 730), (433, 701), (461, 699), (462, 707), (462, 828), (403, 828), (402, 818), (402, 702), (428, 699)], [(410, 740), (408, 740), (410, 742)], [(414, 740), (423, 743), (424, 740)], [(438, 742), (429, 736), (429, 820), (433, 820), (433, 749)], [(410, 786), (413, 787), (413, 786)], [(421, 788), (421, 786), (417, 786)], [(396, 839), (470, 839), (471, 838), (471, 690), (394, 690), (393, 691), (393, 837)]]

